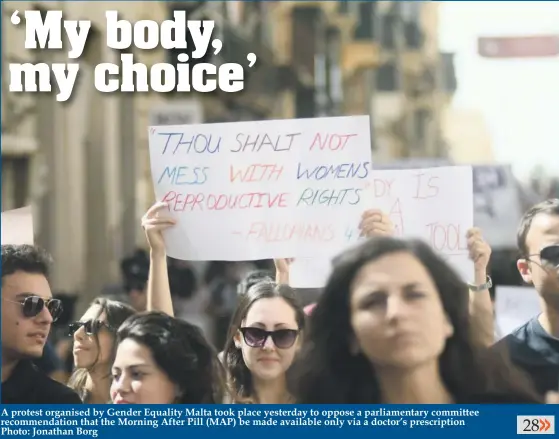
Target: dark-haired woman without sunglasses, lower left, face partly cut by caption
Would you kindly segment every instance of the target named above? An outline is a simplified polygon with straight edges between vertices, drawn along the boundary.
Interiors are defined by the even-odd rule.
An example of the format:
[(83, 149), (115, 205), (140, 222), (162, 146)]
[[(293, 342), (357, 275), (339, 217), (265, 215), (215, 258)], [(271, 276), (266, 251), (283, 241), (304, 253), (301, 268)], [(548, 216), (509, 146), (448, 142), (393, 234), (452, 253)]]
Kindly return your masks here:
[(115, 404), (219, 404), (225, 374), (202, 331), (165, 313), (130, 317), (118, 330)]

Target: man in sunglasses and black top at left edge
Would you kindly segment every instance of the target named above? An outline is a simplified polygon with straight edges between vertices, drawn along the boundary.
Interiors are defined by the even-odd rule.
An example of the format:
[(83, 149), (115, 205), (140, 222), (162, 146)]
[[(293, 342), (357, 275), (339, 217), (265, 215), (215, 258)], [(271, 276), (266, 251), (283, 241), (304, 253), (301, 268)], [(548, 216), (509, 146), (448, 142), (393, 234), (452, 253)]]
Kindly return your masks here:
[(50, 257), (30, 245), (2, 246), (2, 404), (80, 404), (41, 372), (38, 360), (62, 312), (48, 282)]

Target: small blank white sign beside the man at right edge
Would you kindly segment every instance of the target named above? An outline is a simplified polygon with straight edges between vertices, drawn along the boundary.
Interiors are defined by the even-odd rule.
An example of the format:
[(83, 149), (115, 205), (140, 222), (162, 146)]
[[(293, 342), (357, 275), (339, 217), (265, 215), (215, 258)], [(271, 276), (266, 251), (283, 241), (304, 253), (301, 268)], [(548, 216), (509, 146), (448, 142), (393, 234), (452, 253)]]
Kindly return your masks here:
[(501, 339), (541, 313), (540, 296), (533, 287), (495, 288), (495, 326)]

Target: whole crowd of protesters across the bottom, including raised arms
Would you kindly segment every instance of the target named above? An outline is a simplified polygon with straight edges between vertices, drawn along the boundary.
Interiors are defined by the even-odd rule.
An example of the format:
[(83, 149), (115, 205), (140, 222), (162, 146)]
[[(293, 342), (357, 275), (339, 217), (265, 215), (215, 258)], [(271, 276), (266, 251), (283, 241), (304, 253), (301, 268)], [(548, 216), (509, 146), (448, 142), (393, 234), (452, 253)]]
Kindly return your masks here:
[[(75, 321), (71, 300), (53, 297), (49, 255), (2, 245), (2, 403), (558, 402), (557, 199), (527, 211), (517, 236), (542, 313), (496, 343), (479, 229), (466, 283), (429, 245), (395, 238), (386, 214), (364, 212), (367, 239), (334, 259), (309, 305), (289, 259), (212, 263), (200, 282), (167, 258), (166, 213), (157, 203), (142, 218), (149, 253), (123, 262), (124, 296), (100, 296)], [(188, 311), (200, 283), (204, 306)]]

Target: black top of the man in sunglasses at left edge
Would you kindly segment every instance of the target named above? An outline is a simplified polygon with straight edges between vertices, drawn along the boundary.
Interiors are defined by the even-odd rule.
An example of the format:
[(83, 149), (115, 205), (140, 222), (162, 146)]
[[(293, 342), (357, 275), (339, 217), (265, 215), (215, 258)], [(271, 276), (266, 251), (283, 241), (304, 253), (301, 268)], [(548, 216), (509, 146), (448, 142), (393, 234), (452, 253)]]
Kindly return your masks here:
[(41, 372), (29, 360), (22, 360), (2, 383), (2, 404), (82, 404), (69, 387)]

